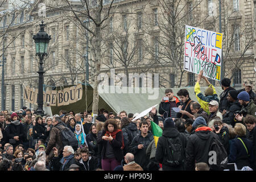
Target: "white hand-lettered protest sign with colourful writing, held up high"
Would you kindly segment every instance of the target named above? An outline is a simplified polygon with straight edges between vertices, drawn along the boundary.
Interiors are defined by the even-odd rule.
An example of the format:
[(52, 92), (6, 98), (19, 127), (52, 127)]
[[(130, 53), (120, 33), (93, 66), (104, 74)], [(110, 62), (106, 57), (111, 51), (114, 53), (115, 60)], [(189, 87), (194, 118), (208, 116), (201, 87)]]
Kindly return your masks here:
[(185, 26), (184, 69), (220, 81), (222, 34)]

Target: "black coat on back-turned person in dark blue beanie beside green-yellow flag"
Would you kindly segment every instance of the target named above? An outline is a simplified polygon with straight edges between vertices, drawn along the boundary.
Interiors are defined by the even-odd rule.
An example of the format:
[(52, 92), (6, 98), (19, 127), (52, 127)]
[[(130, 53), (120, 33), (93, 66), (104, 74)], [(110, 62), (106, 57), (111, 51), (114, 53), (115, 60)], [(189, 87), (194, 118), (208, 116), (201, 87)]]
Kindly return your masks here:
[(183, 146), (183, 151), (181, 152), (182, 158), (185, 160), (185, 148), (187, 146), (187, 137), (183, 133), (179, 133), (179, 131), (175, 128), (167, 128), (163, 129), (163, 134), (162, 137), (159, 137), (158, 139), (158, 145), (156, 147), (156, 154), (155, 154), (155, 159), (159, 162), (162, 163), (163, 165), (163, 171), (182, 171), (184, 170), (184, 164), (182, 164), (179, 167), (170, 167), (167, 166), (164, 163), (164, 159), (167, 157), (167, 154), (165, 154), (166, 151), (166, 138), (177, 138), (179, 137)]

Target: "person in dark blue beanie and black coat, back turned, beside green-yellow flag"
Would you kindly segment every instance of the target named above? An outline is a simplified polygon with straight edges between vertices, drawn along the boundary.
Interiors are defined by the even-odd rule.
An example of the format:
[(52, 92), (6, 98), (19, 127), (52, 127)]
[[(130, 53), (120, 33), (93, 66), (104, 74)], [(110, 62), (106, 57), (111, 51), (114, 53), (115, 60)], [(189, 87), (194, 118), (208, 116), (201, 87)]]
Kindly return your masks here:
[[(187, 138), (183, 133), (179, 133), (179, 131), (175, 127), (175, 123), (172, 118), (166, 118), (164, 120), (164, 129), (162, 137), (158, 139), (158, 145), (156, 147), (156, 154), (155, 159), (161, 163), (163, 166), (163, 171), (183, 171), (184, 170), (184, 162), (185, 162), (185, 147), (187, 146)], [(181, 163), (177, 166), (170, 166), (167, 163), (168, 155), (166, 154), (167, 147), (167, 140), (175, 145), (176, 147), (181, 145), (180, 148), (180, 158)], [(172, 149), (174, 150), (174, 149)]]

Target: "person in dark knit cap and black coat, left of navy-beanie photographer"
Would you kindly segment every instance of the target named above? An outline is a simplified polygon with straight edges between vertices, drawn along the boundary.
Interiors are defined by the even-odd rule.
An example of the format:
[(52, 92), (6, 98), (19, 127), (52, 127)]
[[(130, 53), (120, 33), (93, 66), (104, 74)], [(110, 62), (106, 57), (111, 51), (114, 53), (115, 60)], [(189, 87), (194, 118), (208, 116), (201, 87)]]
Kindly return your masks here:
[(228, 96), (226, 97), (229, 101), (230, 107), (227, 110), (224, 110), (225, 114), (223, 115), (222, 122), (227, 123), (228, 125), (236, 125), (236, 122), (234, 121), (234, 114), (236, 111), (241, 110), (241, 105), (237, 100), (237, 90), (230, 90), (228, 93)]

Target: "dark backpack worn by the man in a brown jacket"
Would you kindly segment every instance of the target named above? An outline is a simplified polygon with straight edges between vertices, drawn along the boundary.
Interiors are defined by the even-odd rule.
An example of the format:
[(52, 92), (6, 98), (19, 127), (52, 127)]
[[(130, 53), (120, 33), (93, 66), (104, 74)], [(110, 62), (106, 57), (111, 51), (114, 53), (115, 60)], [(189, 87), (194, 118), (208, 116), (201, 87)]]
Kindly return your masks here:
[(59, 126), (55, 126), (57, 129), (60, 130), (60, 137), (61, 137), (61, 142), (63, 143), (64, 146), (72, 146), (73, 149), (76, 151), (78, 148), (78, 141), (68, 127), (64, 126), (64, 129), (61, 129)]

